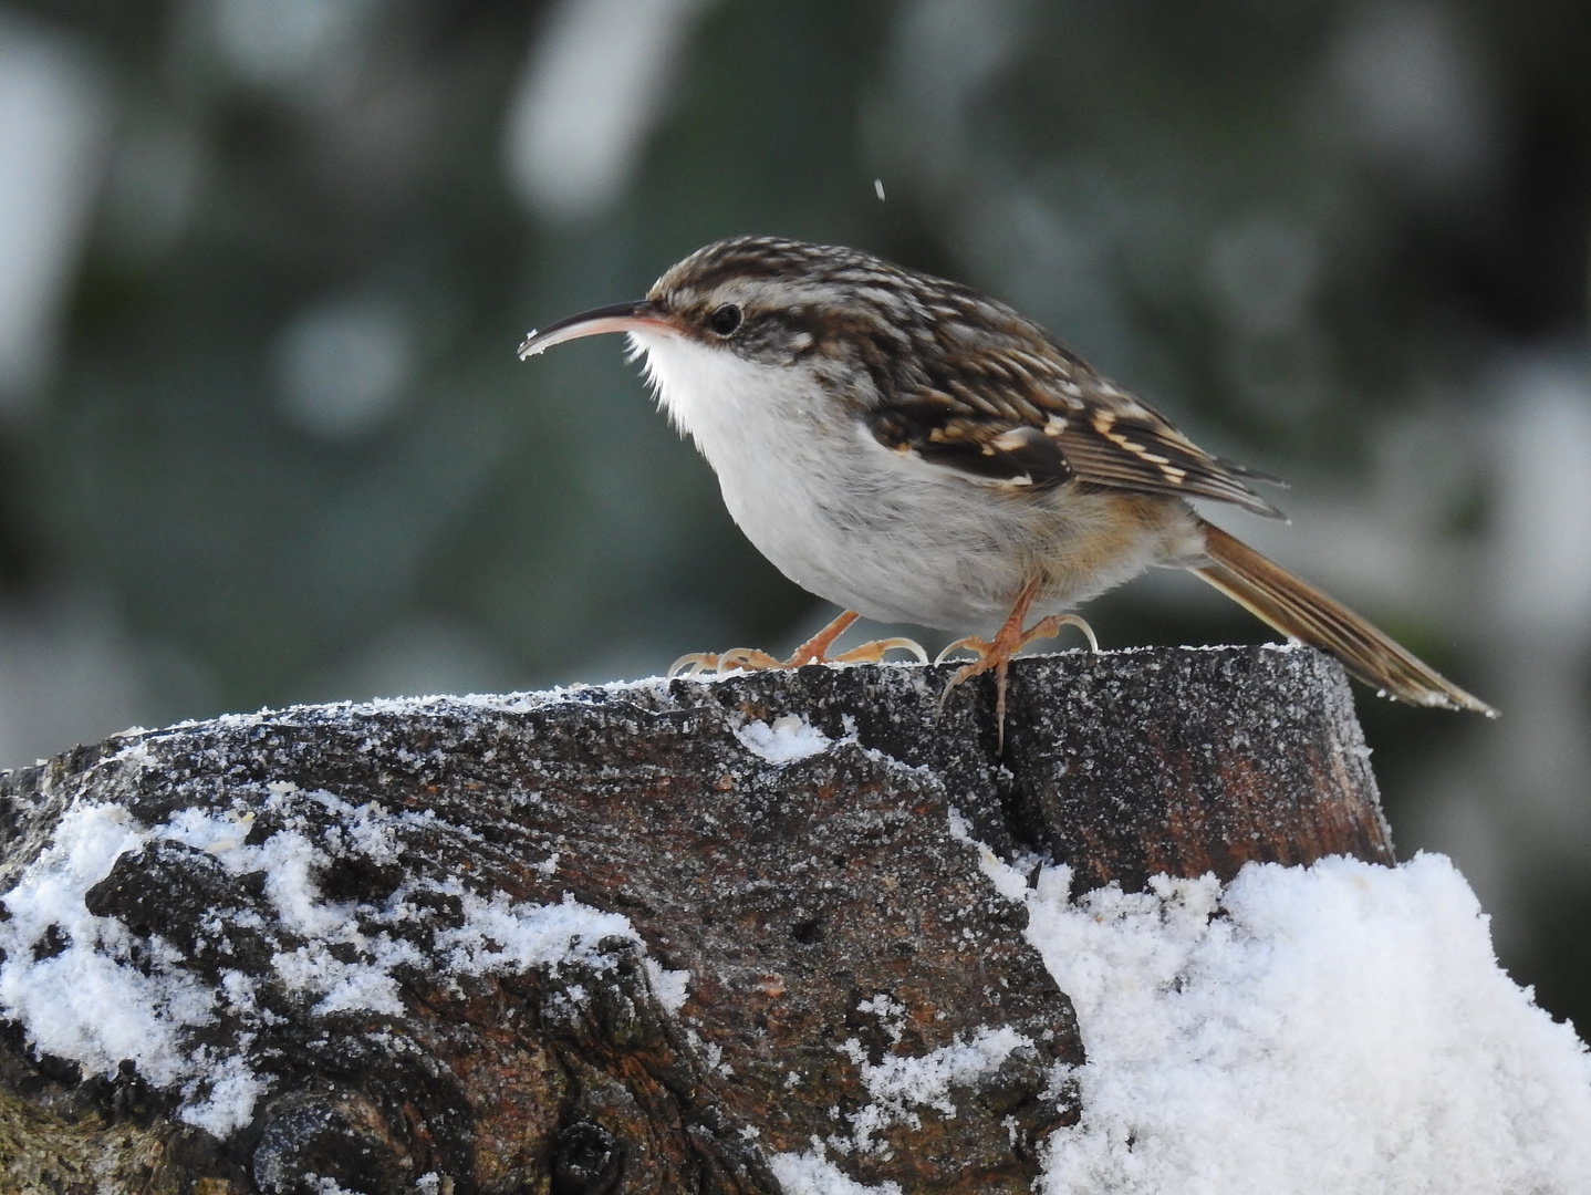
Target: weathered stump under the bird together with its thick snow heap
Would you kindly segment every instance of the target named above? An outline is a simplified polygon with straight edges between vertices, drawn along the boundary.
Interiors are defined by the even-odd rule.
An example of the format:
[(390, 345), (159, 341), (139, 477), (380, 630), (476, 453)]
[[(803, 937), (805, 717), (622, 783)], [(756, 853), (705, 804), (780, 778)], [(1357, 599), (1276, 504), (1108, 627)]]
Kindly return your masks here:
[(1585, 1055), (1451, 866), (1384, 866), (1335, 664), (1023, 660), (1002, 756), (950, 671), (264, 711), (11, 773), (14, 1173), (1591, 1185)]

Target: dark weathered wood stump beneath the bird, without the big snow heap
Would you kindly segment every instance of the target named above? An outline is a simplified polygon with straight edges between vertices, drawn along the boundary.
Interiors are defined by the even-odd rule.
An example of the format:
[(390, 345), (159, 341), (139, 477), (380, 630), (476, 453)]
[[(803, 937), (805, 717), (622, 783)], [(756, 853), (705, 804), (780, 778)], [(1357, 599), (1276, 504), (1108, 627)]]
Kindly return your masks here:
[(1004, 754), (950, 673), (305, 706), (8, 773), (0, 1190), (1029, 1190), (1083, 1049), (996, 858), (1392, 853), (1314, 651), (1025, 659)]

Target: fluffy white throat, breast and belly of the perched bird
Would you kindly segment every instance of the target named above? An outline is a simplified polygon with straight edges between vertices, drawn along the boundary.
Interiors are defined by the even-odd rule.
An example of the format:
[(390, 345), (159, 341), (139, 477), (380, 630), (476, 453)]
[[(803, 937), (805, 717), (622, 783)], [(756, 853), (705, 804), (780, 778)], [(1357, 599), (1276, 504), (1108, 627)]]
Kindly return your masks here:
[[(990, 630), (1037, 557), (1087, 539), (1106, 516), (1013, 501), (956, 471), (901, 457), (800, 369), (760, 366), (684, 337), (632, 333), (662, 407), (719, 479), (730, 516), (791, 581), (883, 622)], [(1064, 582), (1063, 609), (1155, 563), (1146, 541), (1112, 568)]]

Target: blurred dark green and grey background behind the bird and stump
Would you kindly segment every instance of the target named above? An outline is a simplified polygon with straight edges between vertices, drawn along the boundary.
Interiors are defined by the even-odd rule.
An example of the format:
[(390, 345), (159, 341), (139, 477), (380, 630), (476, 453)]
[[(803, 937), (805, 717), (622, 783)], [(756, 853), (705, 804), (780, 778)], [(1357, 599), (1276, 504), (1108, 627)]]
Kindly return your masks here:
[[(1546, 0), (13, 0), (0, 767), (794, 646), (832, 611), (622, 345), (514, 347), (854, 243), (1292, 481), (1217, 517), (1503, 710), (1360, 691), (1400, 850), (1591, 1025), (1588, 51)], [(1266, 638), (1185, 576), (1088, 616)]]

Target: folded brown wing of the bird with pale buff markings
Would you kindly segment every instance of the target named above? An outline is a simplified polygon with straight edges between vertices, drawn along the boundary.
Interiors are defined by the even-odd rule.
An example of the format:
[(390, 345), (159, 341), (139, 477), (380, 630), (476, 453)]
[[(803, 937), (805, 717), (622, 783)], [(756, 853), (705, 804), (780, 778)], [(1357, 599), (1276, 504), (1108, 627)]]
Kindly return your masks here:
[(891, 390), (899, 398), (864, 414), (880, 444), (975, 481), (1034, 487), (1076, 481), (1214, 498), (1282, 517), (1244, 482), (1274, 479), (1209, 455), (1052, 342), (982, 345), (950, 358), (963, 366), (937, 376), (918, 369), (905, 387), (896, 379)]

